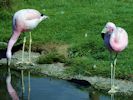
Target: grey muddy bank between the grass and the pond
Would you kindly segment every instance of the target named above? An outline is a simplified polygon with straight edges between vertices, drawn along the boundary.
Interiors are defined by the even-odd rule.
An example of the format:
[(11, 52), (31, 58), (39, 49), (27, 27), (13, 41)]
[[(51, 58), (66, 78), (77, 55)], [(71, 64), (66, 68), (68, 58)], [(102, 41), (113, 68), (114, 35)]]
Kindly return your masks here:
[[(25, 61), (28, 61), (28, 53), (24, 54)], [(64, 67), (63, 63), (55, 63), (55, 64), (36, 64), (36, 60), (40, 56), (39, 53), (31, 54), (31, 58), (34, 66), (27, 64), (16, 64), (21, 61), (21, 51), (15, 53), (12, 59), (11, 67), (13, 69), (21, 70), (30, 70), (32, 73), (36, 74), (44, 74), (52, 77), (57, 77), (65, 80), (77, 79), (84, 80), (89, 82), (95, 89), (108, 91), (110, 89), (110, 78), (103, 78), (100, 76), (82, 76), (82, 75), (73, 75), (71, 76), (68, 73), (65, 73), (66, 67)], [(6, 59), (0, 60), (0, 64), (6, 64)], [(122, 95), (133, 95), (133, 82), (126, 80), (115, 80), (115, 84), (119, 87), (118, 92), (116, 94)]]

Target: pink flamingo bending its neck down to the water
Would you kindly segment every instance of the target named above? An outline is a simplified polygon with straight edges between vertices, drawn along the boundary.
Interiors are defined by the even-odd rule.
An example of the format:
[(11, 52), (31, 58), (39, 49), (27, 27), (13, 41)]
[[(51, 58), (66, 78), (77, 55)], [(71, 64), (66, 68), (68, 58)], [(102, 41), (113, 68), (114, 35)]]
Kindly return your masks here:
[[(34, 29), (42, 20), (48, 18), (41, 14), (35, 9), (22, 9), (17, 11), (13, 16), (13, 33), (8, 42), (7, 46), (7, 64), (10, 65), (12, 57), (12, 48), (16, 41), (18, 40), (20, 34), (25, 31)], [(22, 63), (24, 62), (24, 47), (25, 47), (26, 38), (24, 37), (23, 41), (23, 51), (22, 51)], [(30, 43), (29, 43), (29, 63), (31, 63), (31, 32), (30, 32)]]

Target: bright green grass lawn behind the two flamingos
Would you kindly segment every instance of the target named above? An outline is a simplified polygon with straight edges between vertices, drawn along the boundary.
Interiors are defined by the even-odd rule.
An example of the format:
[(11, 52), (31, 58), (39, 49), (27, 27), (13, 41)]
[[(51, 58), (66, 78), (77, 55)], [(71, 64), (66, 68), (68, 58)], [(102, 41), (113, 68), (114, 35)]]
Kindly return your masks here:
[[(109, 52), (100, 32), (108, 21), (123, 27), (129, 35), (129, 45), (119, 54), (116, 76), (133, 74), (133, 0), (12, 0), (11, 7), (0, 10), (0, 41), (8, 42), (12, 32), (12, 16), (23, 8), (34, 8), (50, 18), (32, 31), (33, 47), (38, 45), (67, 44), (72, 74), (109, 76)], [(87, 34), (87, 37), (85, 37)], [(28, 34), (25, 34), (28, 36)], [(22, 43), (21, 38), (18, 43)], [(96, 69), (93, 66), (96, 65)]]

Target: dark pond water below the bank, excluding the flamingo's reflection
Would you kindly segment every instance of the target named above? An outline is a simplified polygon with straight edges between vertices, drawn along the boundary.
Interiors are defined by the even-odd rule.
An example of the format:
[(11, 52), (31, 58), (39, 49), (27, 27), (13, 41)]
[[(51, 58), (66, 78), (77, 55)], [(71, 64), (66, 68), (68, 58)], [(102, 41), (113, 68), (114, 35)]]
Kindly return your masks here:
[[(28, 76), (25, 72), (24, 94), (22, 93), (21, 73), (11, 70), (12, 86), (17, 92), (20, 100), (132, 100), (132, 97), (110, 96), (103, 94), (90, 87), (65, 80), (31, 76), (30, 87), (28, 89)], [(7, 69), (0, 68), (0, 100), (11, 100), (6, 86)]]

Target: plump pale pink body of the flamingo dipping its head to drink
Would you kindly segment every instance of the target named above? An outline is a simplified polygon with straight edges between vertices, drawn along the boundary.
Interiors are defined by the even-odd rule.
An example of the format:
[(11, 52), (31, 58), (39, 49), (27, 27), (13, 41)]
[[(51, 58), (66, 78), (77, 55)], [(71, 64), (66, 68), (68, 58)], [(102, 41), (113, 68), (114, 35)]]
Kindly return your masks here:
[(17, 11), (13, 17), (13, 29), (24, 32), (34, 29), (45, 16), (34, 9), (22, 9)]

